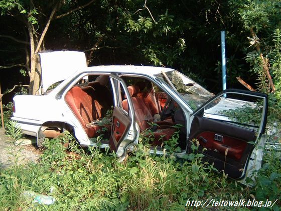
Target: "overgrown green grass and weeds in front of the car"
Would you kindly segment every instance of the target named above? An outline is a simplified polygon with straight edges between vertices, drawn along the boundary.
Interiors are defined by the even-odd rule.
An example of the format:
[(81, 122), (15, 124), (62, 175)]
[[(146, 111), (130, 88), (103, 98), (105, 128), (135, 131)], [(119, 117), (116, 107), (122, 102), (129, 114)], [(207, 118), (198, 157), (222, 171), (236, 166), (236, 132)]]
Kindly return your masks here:
[[(281, 198), (278, 154), (269, 153), (265, 157), (256, 178), (257, 185), (249, 188), (202, 163), (202, 155), (195, 152), (196, 144), (191, 161), (176, 161), (173, 154), (151, 155), (149, 148), (140, 143), (119, 162), (108, 150), (89, 148), (85, 152), (75, 141), (65, 150), (61, 142), (67, 139), (72, 139), (70, 134), (46, 141), (39, 163), (1, 169), (2, 209), (185, 210), (195, 209), (185, 206), (188, 199), (255, 197), (274, 201)], [(51, 195), (56, 202), (51, 205), (34, 203), (22, 195), (24, 190)], [(277, 204), (280, 205), (280, 201)]]

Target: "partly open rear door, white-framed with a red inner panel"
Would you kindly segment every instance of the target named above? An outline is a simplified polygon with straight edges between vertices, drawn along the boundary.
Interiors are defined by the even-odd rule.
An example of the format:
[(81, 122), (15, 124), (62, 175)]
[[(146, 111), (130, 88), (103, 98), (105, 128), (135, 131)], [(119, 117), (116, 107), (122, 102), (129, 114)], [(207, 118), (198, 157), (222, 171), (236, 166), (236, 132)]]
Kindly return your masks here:
[[(123, 79), (110, 75), (114, 95), (114, 109), (112, 114), (111, 136), (109, 146), (117, 157), (125, 154), (127, 147), (137, 143), (139, 130), (135, 126), (133, 104)], [(125, 96), (128, 96), (125, 98)], [(123, 109), (123, 103), (128, 103), (128, 112)]]

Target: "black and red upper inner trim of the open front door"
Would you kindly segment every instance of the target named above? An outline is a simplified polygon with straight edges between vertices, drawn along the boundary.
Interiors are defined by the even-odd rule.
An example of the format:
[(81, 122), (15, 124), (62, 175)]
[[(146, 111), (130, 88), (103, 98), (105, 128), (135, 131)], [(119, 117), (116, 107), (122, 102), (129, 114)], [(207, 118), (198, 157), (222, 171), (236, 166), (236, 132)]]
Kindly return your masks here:
[[(221, 141), (217, 137), (221, 137)], [(225, 156), (227, 150), (227, 157), (236, 161), (240, 161), (243, 154), (249, 153), (246, 146), (253, 145), (247, 142), (256, 140), (255, 133), (251, 130), (204, 117), (195, 117), (193, 120), (189, 140), (194, 138), (199, 141), (202, 149), (207, 149), (205, 154), (214, 151)]]

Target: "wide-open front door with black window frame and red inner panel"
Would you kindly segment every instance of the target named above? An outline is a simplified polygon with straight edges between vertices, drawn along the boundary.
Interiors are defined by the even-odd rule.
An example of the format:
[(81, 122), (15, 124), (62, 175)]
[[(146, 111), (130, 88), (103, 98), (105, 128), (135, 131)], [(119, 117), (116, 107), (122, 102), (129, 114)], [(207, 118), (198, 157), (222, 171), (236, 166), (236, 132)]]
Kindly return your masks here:
[(267, 95), (259, 92), (220, 92), (192, 114), (187, 152), (193, 152), (192, 140), (196, 139), (200, 143), (198, 153), (218, 171), (234, 179), (244, 178), (255, 163), (250, 161), (260, 158), (252, 152), (256, 153), (265, 131), (267, 100)]

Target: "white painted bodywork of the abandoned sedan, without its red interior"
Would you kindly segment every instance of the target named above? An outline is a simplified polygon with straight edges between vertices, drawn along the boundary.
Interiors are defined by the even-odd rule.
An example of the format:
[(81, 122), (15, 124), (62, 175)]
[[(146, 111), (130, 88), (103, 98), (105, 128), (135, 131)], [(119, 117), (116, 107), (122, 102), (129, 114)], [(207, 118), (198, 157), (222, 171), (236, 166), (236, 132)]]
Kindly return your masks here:
[[(192, 88), (197, 88), (198, 90), (202, 89), (204, 93), (206, 93), (209, 98), (209, 100), (206, 100), (205, 102), (202, 101), (201, 104), (196, 105), (190, 105), (189, 100), (185, 99), (185, 97), (180, 94), (177, 91), (178, 82), (175, 83), (173, 81), (174, 85), (171, 85), (171, 81), (167, 82), (167, 74), (170, 74), (171, 72), (175, 71), (170, 68), (162, 68), (162, 67), (151, 67), (151, 66), (132, 66), (132, 65), (125, 65), (125, 66), (115, 66), (115, 65), (109, 65), (109, 66), (93, 66), (93, 67), (86, 67), (86, 59), (84, 53), (81, 52), (72, 52), (72, 51), (60, 51), (60, 52), (43, 52), (39, 54), (40, 56), (40, 65), (42, 70), (42, 84), (40, 87), (41, 95), (17, 95), (14, 97), (14, 106), (15, 106), (15, 112), (13, 113), (12, 120), (18, 122), (18, 126), (21, 127), (22, 132), (31, 136), (37, 137), (38, 140), (44, 139), (44, 135), (42, 135), (42, 131), (46, 130), (47, 128), (55, 128), (54, 131), (63, 131), (69, 128), (72, 128), (75, 134), (76, 139), (79, 141), (80, 145), (82, 146), (97, 146), (97, 142), (95, 142), (92, 138), (89, 138), (87, 133), (85, 132), (81, 121), (78, 120), (77, 116), (74, 115), (73, 110), (70, 108), (69, 104), (66, 103), (65, 97), (66, 94), (70, 91), (71, 88), (79, 85), (81, 79), (88, 80), (88, 77), (94, 75), (102, 75), (102, 76), (108, 76), (110, 78), (110, 83), (112, 85), (112, 93), (114, 98), (114, 109), (117, 107), (118, 103), (121, 103), (121, 92), (120, 87), (123, 87), (123, 91), (125, 95), (130, 95), (129, 90), (127, 89), (127, 85), (125, 84), (124, 80), (122, 78), (126, 77), (137, 77), (137, 78), (144, 78), (144, 80), (151, 81), (154, 85), (159, 87), (161, 90), (165, 90), (165, 93), (168, 95), (168, 97), (172, 100), (169, 102), (169, 99), (166, 101), (166, 106), (170, 106), (174, 102), (177, 103), (177, 107), (180, 108), (181, 113), (180, 115), (183, 118), (183, 124), (185, 126), (184, 128), (184, 136), (186, 139), (186, 148), (181, 147), (181, 151), (176, 153), (179, 157), (185, 155), (186, 153), (190, 152), (190, 149), (188, 149), (189, 142), (188, 140), (191, 139), (192, 134), (195, 134), (194, 132), (194, 124), (195, 121), (207, 121), (205, 119), (210, 118), (211, 123), (213, 123), (213, 120), (218, 121), (218, 127), (219, 124), (225, 124), (226, 127), (234, 127), (236, 130), (237, 126), (233, 126), (231, 123), (230, 126), (228, 122), (230, 122), (229, 118), (226, 117), (223, 113), (220, 113), (223, 109), (226, 111), (229, 111), (230, 109), (235, 108), (242, 108), (244, 105), (246, 105), (246, 102), (244, 100), (240, 99), (224, 99), (221, 96), (225, 93), (228, 94), (241, 94), (243, 96), (255, 96), (261, 100), (263, 100), (263, 109), (261, 111), (261, 120), (260, 124), (256, 129), (257, 138), (262, 137), (262, 134), (264, 133), (264, 127), (266, 124), (266, 112), (267, 112), (267, 97), (264, 94), (258, 93), (255, 95), (253, 92), (249, 91), (239, 91), (231, 89), (229, 91), (225, 91), (225, 93), (220, 93), (217, 96), (214, 96), (213, 99), (211, 98), (210, 92), (205, 91), (204, 88), (196, 84), (194, 81), (189, 79), (188, 77), (182, 76), (183, 84), (186, 85), (185, 92), (188, 95), (190, 90)], [(163, 78), (159, 77), (159, 75), (163, 76)], [(170, 76), (170, 78), (173, 76)], [(180, 74), (177, 75), (177, 77), (181, 77)], [(165, 79), (166, 78), (166, 79)], [(189, 84), (186, 84), (189, 81)], [(54, 83), (62, 81), (57, 87), (55, 87), (51, 91), (47, 91), (47, 89)], [(180, 85), (183, 85), (180, 84)], [(81, 84), (80, 84), (81, 85)], [(83, 85), (83, 84), (82, 84)], [(190, 89), (190, 90), (189, 90)], [(46, 92), (47, 91), (47, 92)], [(119, 94), (117, 92), (120, 92)], [(203, 94), (204, 95), (204, 94)], [(201, 96), (200, 94), (198, 96)], [(119, 97), (119, 99), (118, 99)], [(123, 97), (123, 96), (122, 96)], [(133, 96), (127, 97), (128, 102), (128, 110), (129, 111), (123, 111), (123, 115), (128, 116), (131, 123), (128, 124), (128, 129), (126, 129), (126, 132), (124, 136), (122, 136), (121, 141), (119, 141), (119, 145), (116, 145), (114, 148), (114, 151), (116, 152), (117, 156), (124, 156), (126, 150), (138, 143), (138, 137), (141, 129), (139, 128), (137, 121), (135, 118), (137, 118), (134, 115), (134, 107), (133, 104)], [(124, 100), (124, 99), (122, 99)], [(215, 103), (214, 106), (211, 108), (208, 108), (210, 103), (213, 103), (215, 101), (219, 101), (218, 103)], [(158, 103), (158, 102), (157, 102)], [(251, 103), (253, 106), (253, 103)], [(159, 104), (158, 104), (159, 106)], [(159, 106), (160, 108), (160, 106)], [(172, 109), (175, 109), (173, 107)], [(171, 111), (172, 111), (171, 109)], [(164, 110), (164, 109), (163, 109)], [(160, 111), (160, 110), (159, 110)], [(166, 111), (167, 112), (167, 111)], [(160, 112), (159, 112), (160, 113)], [(114, 110), (113, 110), (114, 115)], [(179, 117), (178, 117), (179, 118)], [(209, 120), (208, 120), (209, 121)], [(226, 122), (226, 123), (225, 123)], [(117, 121), (117, 123), (119, 123)], [(113, 123), (112, 123), (113, 124)], [(175, 123), (174, 123), (175, 124)], [(201, 124), (201, 123), (200, 123)], [(199, 125), (200, 125), (199, 124)], [(117, 124), (118, 126), (118, 124)], [(115, 125), (114, 125), (115, 127)], [(114, 127), (111, 126), (111, 135), (112, 130), (114, 132)], [(248, 126), (245, 126), (248, 127)], [(196, 128), (196, 127), (195, 127)], [(232, 128), (231, 128), (232, 129)], [(197, 130), (197, 129), (196, 129)], [(217, 129), (216, 129), (217, 130)], [(237, 130), (240, 130), (239, 128)], [(241, 129), (241, 130), (248, 130), (248, 129)], [(202, 134), (204, 135), (206, 132), (202, 132), (200, 135), (196, 135), (194, 138), (202, 138)], [(214, 132), (215, 133), (215, 141), (212, 140), (212, 143), (220, 144), (220, 142), (224, 141), (224, 138), (227, 138), (225, 135), (219, 135), (223, 134)], [(229, 132), (230, 133), (230, 132)], [(250, 132), (249, 132), (250, 133)], [(111, 137), (112, 138), (112, 137)], [(252, 142), (256, 142), (256, 140), (250, 140)], [(220, 140), (221, 139), (221, 140)], [(237, 138), (240, 140), (241, 138)], [(41, 140), (42, 141), (42, 140)], [(202, 142), (203, 141), (203, 142)], [(206, 140), (204, 137), (201, 140), (201, 144), (210, 142), (209, 140)], [(248, 140), (249, 142), (249, 140)], [(264, 145), (264, 141), (260, 141), (259, 145)], [(241, 142), (242, 143), (242, 142)], [(242, 143), (245, 145), (244, 143)], [(184, 145), (184, 144), (183, 144)], [(247, 146), (249, 144), (246, 144)], [(225, 146), (225, 145), (222, 145)], [(108, 148), (111, 147), (109, 143), (102, 142), (101, 147)], [(220, 146), (221, 147), (221, 146)], [(226, 146), (226, 148), (231, 148), (232, 145)], [(236, 148), (237, 149), (236, 149)], [(212, 153), (216, 154), (218, 153), (219, 149), (212, 148), (212, 146), (206, 146), (206, 148), (210, 148)], [(212, 148), (212, 149), (211, 149)], [(234, 163), (239, 163), (239, 156), (245, 157), (243, 160), (242, 168), (244, 171), (239, 174), (237, 172), (233, 173), (233, 178), (244, 181), (246, 173), (250, 174), (254, 170), (258, 169), (261, 165), (261, 158), (262, 158), (262, 152), (257, 153), (257, 148), (252, 147), (250, 150), (247, 151), (246, 155), (239, 155), (238, 157), (235, 157), (235, 150), (237, 152), (240, 150), (239, 146), (233, 146), (234, 151), (233, 155), (234, 158), (231, 158)], [(246, 150), (246, 147), (243, 148), (243, 150)], [(154, 153), (155, 149), (152, 148), (151, 152)], [(160, 146), (158, 146), (156, 150), (157, 154), (163, 154), (163, 150)], [(202, 152), (203, 153), (203, 152)], [(210, 159), (216, 159), (212, 158), (213, 154), (206, 156), (210, 157)], [(240, 158), (242, 159), (242, 158)], [(253, 160), (255, 162), (253, 162)], [(230, 164), (230, 169), (231, 165)], [(237, 164), (238, 165), (238, 164)], [(238, 167), (237, 167), (238, 168)], [(220, 169), (224, 170), (224, 169)]]

